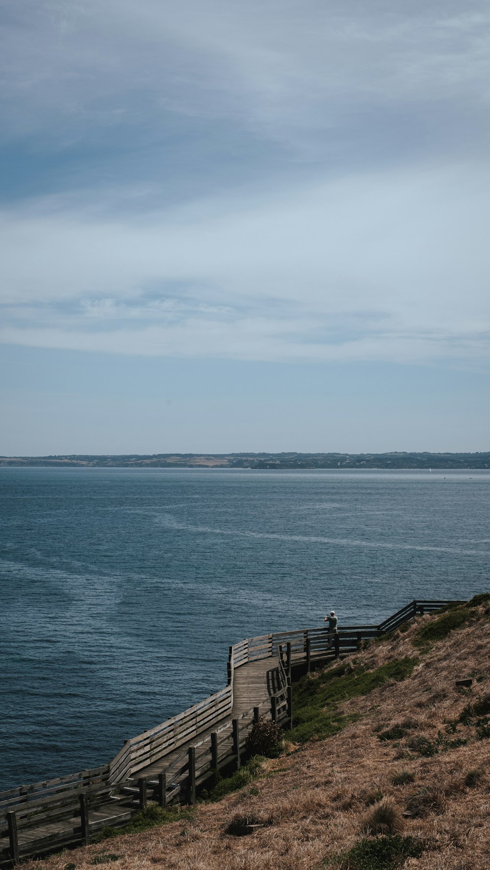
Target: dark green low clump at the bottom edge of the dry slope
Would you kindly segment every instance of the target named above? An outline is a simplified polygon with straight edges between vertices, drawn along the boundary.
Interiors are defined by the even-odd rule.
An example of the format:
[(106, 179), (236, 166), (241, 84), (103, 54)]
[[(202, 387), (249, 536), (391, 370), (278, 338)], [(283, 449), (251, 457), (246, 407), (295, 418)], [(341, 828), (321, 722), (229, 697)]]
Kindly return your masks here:
[[(416, 837), (401, 837), (399, 834), (384, 837), (365, 837), (349, 852), (339, 855), (339, 870), (398, 870), (407, 858), (420, 858), (424, 844)], [(324, 864), (332, 864), (326, 859)]]

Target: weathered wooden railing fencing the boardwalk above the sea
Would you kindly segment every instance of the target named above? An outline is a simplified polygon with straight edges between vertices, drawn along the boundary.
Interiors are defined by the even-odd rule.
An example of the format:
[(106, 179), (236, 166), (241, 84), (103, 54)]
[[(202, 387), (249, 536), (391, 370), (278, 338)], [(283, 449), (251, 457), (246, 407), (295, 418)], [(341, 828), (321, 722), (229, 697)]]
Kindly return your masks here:
[[(276, 632), (231, 646), (224, 689), (126, 740), (110, 764), (0, 792), (0, 865), (75, 842), (89, 842), (97, 828), (131, 819), (149, 796), (161, 806), (171, 801), (193, 803), (196, 789), (211, 773), (241, 765), (247, 735), (260, 717), (282, 726), (291, 724), (294, 669), (309, 671), (319, 661), (354, 652), (363, 640), (394, 631), (407, 619), (462, 603), (413, 600), (378, 626), (344, 626), (333, 636), (326, 627)], [(232, 718), (235, 671), (249, 662), (269, 658), (276, 659), (268, 672), (269, 697), (258, 699), (256, 706)], [(214, 725), (217, 727), (210, 731)], [(165, 766), (165, 756), (180, 746), (182, 752)], [(158, 760), (162, 766), (156, 777), (135, 779), (135, 774)], [(98, 813), (104, 818), (90, 820), (90, 811), (104, 802), (107, 810), (111, 800), (113, 814), (110, 808)]]

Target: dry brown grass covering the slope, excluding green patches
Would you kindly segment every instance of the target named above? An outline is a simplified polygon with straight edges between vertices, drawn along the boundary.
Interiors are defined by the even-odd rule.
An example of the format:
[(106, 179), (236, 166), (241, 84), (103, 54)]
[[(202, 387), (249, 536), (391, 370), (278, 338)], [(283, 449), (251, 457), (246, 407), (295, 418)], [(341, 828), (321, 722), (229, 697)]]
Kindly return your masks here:
[[(356, 658), (377, 667), (413, 656), (413, 633), (420, 624), (418, 620), (409, 631)], [(456, 691), (454, 680), (472, 674), (483, 679), (469, 693)], [(63, 870), (73, 862), (77, 870), (89, 870), (97, 854), (109, 851), (121, 855), (111, 862), (112, 870), (313, 870), (326, 855), (346, 851), (364, 835), (366, 817), (376, 808), (366, 806), (366, 800), (382, 793), (381, 802), (393, 808), (397, 819), (410, 813), (403, 817), (403, 833), (422, 838), (429, 847), (420, 858), (408, 859), (406, 867), (490, 870), (490, 740), (476, 740), (474, 730), (458, 726), (460, 733), (471, 735), (467, 746), (430, 758), (413, 757), (404, 739), (393, 746), (393, 741), (381, 742), (375, 730), (380, 722), (386, 728), (405, 722), (409, 736), (417, 733), (433, 741), (438, 731), (446, 733), (447, 721), (458, 719), (463, 706), (488, 692), (490, 624), (483, 620), (434, 646), (410, 679), (348, 701), (343, 710), (360, 713), (362, 719), (343, 732), (269, 761), (269, 775), (254, 783), (258, 794), (245, 788), (218, 803), (198, 806), (191, 822), (172, 822), (58, 854), (41, 867)], [(415, 780), (393, 785), (400, 757)], [(472, 771), (478, 776), (467, 785)], [(225, 833), (235, 815), (270, 824), (250, 836), (235, 837)], [(34, 867), (39, 870), (37, 862), (30, 862), (25, 870)]]

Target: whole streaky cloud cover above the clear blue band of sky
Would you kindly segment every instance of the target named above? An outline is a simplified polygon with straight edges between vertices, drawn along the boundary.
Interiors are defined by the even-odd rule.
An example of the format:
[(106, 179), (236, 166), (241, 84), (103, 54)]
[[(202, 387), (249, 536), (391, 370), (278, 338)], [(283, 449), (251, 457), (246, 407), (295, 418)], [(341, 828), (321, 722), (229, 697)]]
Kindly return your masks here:
[(0, 338), (487, 365), (489, 20), (480, 0), (11, 6)]

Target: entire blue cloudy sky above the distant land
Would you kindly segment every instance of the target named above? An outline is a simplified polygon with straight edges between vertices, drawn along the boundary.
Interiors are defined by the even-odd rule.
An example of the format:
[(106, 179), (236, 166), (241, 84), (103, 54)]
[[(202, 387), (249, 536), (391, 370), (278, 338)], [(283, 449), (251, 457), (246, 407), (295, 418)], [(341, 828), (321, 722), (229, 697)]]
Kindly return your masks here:
[(489, 449), (487, 3), (0, 19), (0, 454)]

